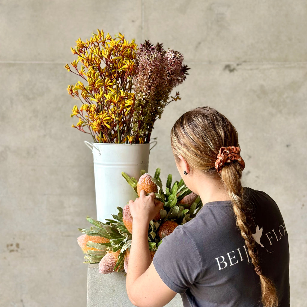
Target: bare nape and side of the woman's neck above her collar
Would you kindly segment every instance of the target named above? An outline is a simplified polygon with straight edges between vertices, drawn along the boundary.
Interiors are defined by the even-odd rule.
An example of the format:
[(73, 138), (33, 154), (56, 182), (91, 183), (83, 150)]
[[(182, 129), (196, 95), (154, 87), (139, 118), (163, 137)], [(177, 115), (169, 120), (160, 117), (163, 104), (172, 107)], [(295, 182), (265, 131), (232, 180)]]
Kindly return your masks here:
[(212, 178), (202, 173), (195, 173), (193, 180), (193, 192), (200, 196), (203, 204), (219, 201), (230, 200), (227, 188), (219, 179)]

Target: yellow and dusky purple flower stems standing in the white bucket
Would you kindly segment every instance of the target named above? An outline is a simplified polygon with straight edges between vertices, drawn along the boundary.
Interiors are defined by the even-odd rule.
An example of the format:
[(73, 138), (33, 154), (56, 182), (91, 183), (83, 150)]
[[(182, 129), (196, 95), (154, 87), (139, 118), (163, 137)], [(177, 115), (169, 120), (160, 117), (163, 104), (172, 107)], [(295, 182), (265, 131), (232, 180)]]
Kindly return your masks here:
[(180, 99), (179, 92), (170, 93), (188, 74), (182, 54), (150, 41), (138, 48), (121, 33), (112, 38), (102, 30), (76, 43), (77, 60), (65, 65), (81, 78), (68, 86), (69, 95), (81, 103), (72, 109), (71, 116), (79, 119), (72, 126), (91, 134), (94, 142), (149, 143), (164, 107)]

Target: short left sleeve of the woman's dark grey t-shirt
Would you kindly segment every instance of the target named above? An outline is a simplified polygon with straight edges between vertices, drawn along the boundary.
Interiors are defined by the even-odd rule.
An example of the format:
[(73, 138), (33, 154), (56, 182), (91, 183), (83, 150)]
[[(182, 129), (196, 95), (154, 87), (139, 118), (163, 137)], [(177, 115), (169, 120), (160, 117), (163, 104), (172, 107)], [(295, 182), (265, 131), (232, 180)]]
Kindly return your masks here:
[(162, 239), (153, 265), (165, 285), (177, 293), (185, 293), (202, 272), (200, 255), (182, 226)]

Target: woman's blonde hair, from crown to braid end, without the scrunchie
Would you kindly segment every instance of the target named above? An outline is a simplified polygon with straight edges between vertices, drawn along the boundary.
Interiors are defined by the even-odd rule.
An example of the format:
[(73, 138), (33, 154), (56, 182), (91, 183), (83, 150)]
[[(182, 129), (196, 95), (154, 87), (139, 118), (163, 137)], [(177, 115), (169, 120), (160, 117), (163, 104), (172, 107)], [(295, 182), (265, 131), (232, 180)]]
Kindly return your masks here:
[[(223, 166), (220, 173), (215, 169), (215, 161), (221, 147), (239, 147), (238, 133), (231, 122), (218, 111), (210, 107), (199, 107), (183, 114), (171, 130), (171, 146), (175, 158), (185, 158), (189, 172), (198, 170), (220, 181), (228, 190), (233, 203), (236, 225), (245, 240), (251, 262), (259, 274), (264, 307), (277, 307), (278, 296), (272, 281), (261, 273), (255, 240), (252, 237), (251, 223), (247, 204), (241, 185), (242, 169), (238, 163)], [(259, 272), (260, 271), (260, 272)]]

